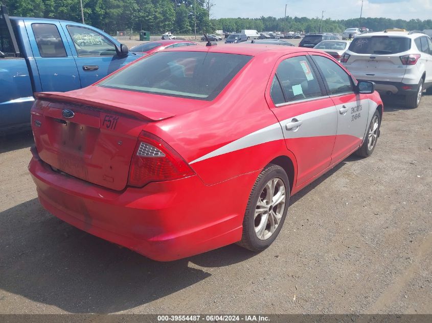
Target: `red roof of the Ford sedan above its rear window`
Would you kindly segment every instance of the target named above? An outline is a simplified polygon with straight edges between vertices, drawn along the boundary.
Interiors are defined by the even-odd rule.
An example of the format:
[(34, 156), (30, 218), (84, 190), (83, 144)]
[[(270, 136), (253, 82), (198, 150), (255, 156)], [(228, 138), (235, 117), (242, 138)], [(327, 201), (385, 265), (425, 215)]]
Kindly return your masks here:
[(177, 47), (170, 48), (166, 51), (169, 52), (212, 52), (212, 53), (224, 53), (224, 54), (238, 54), (238, 55), (249, 55), (258, 56), (263, 53), (268, 54), (291, 54), (299, 52), (316, 52), (322, 53), (322, 51), (296, 47), (296, 46), (281, 46), (276, 44), (251, 44), (251, 43), (240, 43), (235, 46), (221, 45), (221, 46), (188, 46), (188, 47)]

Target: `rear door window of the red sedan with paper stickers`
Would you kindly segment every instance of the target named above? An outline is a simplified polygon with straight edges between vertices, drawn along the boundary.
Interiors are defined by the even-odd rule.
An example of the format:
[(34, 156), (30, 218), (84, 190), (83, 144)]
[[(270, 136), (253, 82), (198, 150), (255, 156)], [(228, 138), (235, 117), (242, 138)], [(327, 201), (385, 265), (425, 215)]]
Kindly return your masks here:
[(276, 71), (287, 101), (321, 96), (320, 84), (306, 56), (291, 57), (282, 61)]

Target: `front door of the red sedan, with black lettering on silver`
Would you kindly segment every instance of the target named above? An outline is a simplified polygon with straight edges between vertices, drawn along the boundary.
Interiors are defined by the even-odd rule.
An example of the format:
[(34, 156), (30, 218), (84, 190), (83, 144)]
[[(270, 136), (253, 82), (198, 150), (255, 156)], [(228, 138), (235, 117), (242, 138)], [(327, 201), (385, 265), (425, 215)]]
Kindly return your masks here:
[(323, 77), (324, 84), (337, 110), (337, 132), (332, 163), (355, 151), (365, 137), (369, 100), (366, 94), (354, 92), (351, 76), (332, 59), (317, 53), (311, 58)]

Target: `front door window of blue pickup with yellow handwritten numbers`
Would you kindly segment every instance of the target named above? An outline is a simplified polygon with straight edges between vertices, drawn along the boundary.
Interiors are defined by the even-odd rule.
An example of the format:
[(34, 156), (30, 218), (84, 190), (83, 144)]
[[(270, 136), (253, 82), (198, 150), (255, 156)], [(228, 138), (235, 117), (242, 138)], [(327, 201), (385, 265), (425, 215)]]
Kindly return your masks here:
[(106, 37), (83, 27), (67, 26), (78, 56), (114, 56), (116, 47)]

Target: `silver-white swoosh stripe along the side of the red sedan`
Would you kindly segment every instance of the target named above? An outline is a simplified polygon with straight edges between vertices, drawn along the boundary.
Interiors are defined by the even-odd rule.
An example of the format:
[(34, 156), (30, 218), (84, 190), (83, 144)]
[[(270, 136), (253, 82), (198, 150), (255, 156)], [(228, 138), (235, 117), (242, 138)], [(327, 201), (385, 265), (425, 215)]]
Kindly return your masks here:
[[(372, 114), (375, 111), (377, 104), (370, 100), (361, 100), (362, 104), (368, 103), (369, 108), (369, 115), (368, 115), (368, 121), (365, 128), (365, 132), (367, 127), (369, 126), (370, 120), (372, 119)], [(334, 122), (326, 122), (325, 119), (329, 119), (328, 116), (333, 113), (334, 111)], [(326, 118), (327, 115), (327, 118)], [(302, 131), (296, 131), (296, 132), (287, 132), (285, 130), (282, 131), (281, 127), (285, 127), (285, 124), (290, 122), (293, 118), (297, 118), (299, 120), (307, 120), (309, 125), (307, 127), (300, 127)], [(262, 128), (260, 130), (257, 130), (251, 134), (248, 134), (244, 137), (241, 137), (233, 142), (230, 142), (229, 144), (226, 144), (213, 152), (206, 154), (204, 156), (201, 156), (193, 161), (191, 161), (189, 164), (193, 164), (202, 160), (206, 160), (212, 157), (220, 156), (223, 154), (232, 153), (237, 150), (241, 150), (244, 148), (252, 147), (255, 145), (259, 145), (261, 143), (275, 141), (275, 140), (281, 140), (284, 139), (284, 134), (286, 139), (293, 139), (293, 138), (307, 138), (307, 137), (319, 137), (319, 136), (334, 136), (336, 135), (336, 128), (337, 128), (337, 109), (335, 106), (318, 109), (315, 111), (306, 112), (303, 114), (300, 114), (298, 116), (294, 116), (289, 119), (282, 120), (281, 123), (277, 122), (273, 125), (267, 126), (265, 128)], [(331, 124), (330, 124), (331, 123)], [(302, 125), (303, 126), (303, 125)], [(304, 129), (306, 128), (306, 129)], [(342, 133), (338, 133), (338, 135), (352, 135), (355, 136), (355, 134), (351, 134), (349, 129), (343, 129), (344, 127), (341, 127), (339, 130), (343, 130)], [(363, 139), (362, 137), (359, 137), (359, 139)]]

